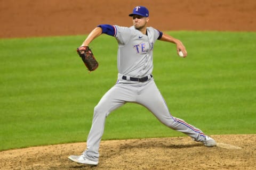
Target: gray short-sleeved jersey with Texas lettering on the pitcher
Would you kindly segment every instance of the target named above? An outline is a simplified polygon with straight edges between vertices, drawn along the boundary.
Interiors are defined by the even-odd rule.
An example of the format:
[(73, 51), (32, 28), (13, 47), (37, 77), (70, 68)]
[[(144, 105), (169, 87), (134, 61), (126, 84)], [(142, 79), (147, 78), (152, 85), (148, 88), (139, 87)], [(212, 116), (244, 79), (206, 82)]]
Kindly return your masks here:
[(116, 29), (118, 41), (117, 67), (118, 72), (130, 77), (145, 77), (153, 71), (153, 48), (159, 37), (159, 31), (148, 27), (147, 35), (143, 35), (134, 27)]

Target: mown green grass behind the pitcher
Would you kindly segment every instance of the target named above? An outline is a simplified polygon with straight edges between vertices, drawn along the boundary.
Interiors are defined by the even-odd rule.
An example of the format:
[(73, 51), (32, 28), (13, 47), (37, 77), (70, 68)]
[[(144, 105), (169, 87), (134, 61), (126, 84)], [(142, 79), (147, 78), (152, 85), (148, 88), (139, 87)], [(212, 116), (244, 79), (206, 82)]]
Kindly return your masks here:
[[(157, 41), (154, 78), (173, 116), (207, 134), (255, 133), (256, 32), (169, 32), (188, 57)], [(91, 48), (88, 73), (76, 47), (86, 36), (0, 39), (0, 150), (86, 141), (93, 108), (117, 78), (113, 37)], [(103, 140), (183, 136), (142, 106), (109, 115)]]

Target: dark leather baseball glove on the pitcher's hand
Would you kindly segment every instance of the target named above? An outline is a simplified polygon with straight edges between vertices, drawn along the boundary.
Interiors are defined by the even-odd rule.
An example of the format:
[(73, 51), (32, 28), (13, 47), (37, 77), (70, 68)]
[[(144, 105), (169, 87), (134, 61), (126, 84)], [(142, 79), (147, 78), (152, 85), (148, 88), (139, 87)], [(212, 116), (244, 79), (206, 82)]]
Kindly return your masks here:
[(89, 46), (78, 47), (76, 51), (77, 54), (82, 58), (85, 66), (90, 72), (97, 69), (99, 64), (94, 58), (92, 50), (89, 48)]

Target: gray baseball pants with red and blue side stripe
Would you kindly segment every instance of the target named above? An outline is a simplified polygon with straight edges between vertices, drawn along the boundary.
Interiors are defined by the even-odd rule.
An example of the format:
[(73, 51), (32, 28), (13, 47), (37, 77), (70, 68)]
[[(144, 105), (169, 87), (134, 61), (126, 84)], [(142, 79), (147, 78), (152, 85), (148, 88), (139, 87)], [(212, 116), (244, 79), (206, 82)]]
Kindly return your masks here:
[(99, 160), (99, 146), (105, 128), (106, 117), (112, 111), (128, 102), (145, 106), (164, 125), (187, 134), (195, 141), (202, 142), (205, 140), (205, 134), (201, 130), (179, 118), (171, 116), (153, 78), (146, 82), (135, 83), (121, 80), (107, 91), (94, 108), (92, 126), (87, 137), (87, 149), (83, 152), (87, 159)]

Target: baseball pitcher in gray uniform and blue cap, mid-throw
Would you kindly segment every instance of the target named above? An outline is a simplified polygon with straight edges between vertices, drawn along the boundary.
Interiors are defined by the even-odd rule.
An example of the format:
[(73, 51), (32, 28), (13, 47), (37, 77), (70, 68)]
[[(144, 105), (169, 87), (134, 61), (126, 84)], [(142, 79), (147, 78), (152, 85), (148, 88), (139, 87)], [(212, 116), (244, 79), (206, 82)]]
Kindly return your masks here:
[[(108, 24), (98, 25), (91, 31), (82, 46), (78, 47), (79, 54), (79, 52), (85, 51), (87, 47), (89, 48), (89, 44), (102, 33), (114, 37), (118, 43), (118, 75), (115, 86), (103, 95), (98, 105), (94, 108), (93, 122), (87, 137), (87, 149), (82, 155), (71, 155), (68, 158), (76, 163), (98, 165), (99, 146), (106, 117), (112, 111), (128, 102), (146, 107), (161, 123), (173, 130), (187, 134), (193, 140), (202, 142), (206, 147), (216, 146), (216, 142), (200, 129), (170, 114), (165, 100), (154, 81), (152, 74), (153, 50), (156, 41), (162, 40), (176, 45), (177, 54), (183, 57), (187, 56), (185, 46), (180, 40), (153, 27), (147, 27), (149, 11), (146, 7), (136, 6), (129, 16), (132, 18), (132, 27)], [(89, 69), (90, 71), (98, 67), (98, 63), (94, 59), (91, 59), (94, 64), (91, 64), (93, 66)]]

